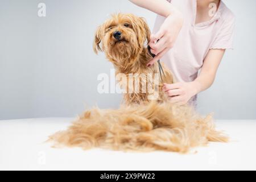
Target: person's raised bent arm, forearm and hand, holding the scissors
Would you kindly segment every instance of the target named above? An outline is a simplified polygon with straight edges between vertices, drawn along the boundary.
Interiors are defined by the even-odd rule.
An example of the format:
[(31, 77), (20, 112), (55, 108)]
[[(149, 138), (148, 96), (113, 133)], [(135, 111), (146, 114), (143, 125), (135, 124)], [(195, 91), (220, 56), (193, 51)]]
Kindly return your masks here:
[[(166, 0), (129, 0), (135, 5), (148, 9), (156, 14), (166, 17), (164, 23), (155, 35), (151, 35), (150, 43), (151, 52), (156, 56), (148, 66), (159, 60), (169, 49), (174, 46), (180, 29), (183, 25), (183, 15), (180, 11)], [(170, 28), (171, 27), (171, 28)], [(159, 40), (157, 43), (156, 41)]]

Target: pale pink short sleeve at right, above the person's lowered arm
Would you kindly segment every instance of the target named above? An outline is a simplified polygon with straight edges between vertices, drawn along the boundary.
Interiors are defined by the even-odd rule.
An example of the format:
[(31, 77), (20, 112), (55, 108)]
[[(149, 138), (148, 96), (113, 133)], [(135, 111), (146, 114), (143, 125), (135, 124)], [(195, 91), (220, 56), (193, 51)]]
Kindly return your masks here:
[(233, 49), (234, 27), (235, 18), (232, 14), (232, 17), (229, 18), (229, 20), (225, 20), (223, 22), (220, 31), (213, 40), (212, 46), (210, 46), (210, 49)]

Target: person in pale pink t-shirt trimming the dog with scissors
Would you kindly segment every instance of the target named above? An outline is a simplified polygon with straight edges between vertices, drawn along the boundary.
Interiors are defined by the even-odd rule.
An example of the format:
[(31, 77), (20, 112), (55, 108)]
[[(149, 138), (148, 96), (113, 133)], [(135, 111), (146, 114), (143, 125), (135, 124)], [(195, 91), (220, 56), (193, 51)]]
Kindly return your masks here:
[[(171, 102), (196, 105), (196, 96), (214, 81), (226, 49), (232, 49), (235, 18), (221, 0), (130, 0), (156, 14), (149, 46), (174, 73), (164, 84)], [(200, 73), (199, 73), (200, 71)]]

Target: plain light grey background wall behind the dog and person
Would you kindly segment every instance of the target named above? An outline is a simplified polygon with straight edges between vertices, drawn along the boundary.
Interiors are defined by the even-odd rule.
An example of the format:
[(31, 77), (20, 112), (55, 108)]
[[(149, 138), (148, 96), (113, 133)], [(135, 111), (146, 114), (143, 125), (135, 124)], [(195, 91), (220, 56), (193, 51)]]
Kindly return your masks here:
[[(47, 6), (38, 17), (38, 3)], [(213, 86), (199, 95), (200, 113), (256, 119), (255, 0), (226, 0), (236, 14), (234, 51), (227, 51)], [(0, 0), (0, 119), (73, 117), (98, 105), (116, 108), (119, 94), (98, 94), (97, 76), (112, 64), (92, 50), (93, 35), (111, 13), (155, 14), (127, 0)]]

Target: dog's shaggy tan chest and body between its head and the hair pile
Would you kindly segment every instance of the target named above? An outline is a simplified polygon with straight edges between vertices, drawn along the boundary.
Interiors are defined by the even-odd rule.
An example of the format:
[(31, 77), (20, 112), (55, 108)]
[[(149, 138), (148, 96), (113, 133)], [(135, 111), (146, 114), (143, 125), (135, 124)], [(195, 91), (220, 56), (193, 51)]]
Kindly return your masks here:
[[(131, 58), (132, 59), (132, 58)], [(163, 65), (165, 77), (160, 78), (158, 64), (147, 67), (152, 57), (144, 48), (142, 53), (130, 60), (126, 67), (115, 67), (116, 80), (123, 90), (123, 99), (126, 104), (140, 104), (151, 100), (163, 102), (167, 100), (166, 94), (162, 92), (163, 82), (174, 83), (172, 73)], [(126, 61), (129, 62), (129, 61)]]

